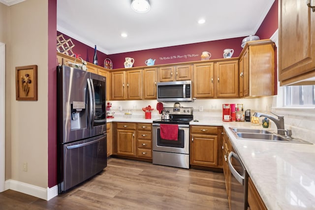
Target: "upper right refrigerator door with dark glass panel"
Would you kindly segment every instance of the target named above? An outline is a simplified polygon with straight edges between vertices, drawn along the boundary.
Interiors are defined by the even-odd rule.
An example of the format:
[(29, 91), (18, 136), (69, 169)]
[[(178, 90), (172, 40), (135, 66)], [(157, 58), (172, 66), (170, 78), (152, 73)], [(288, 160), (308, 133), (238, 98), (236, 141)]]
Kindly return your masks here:
[(90, 74), (93, 95), (91, 136), (106, 132), (106, 77)]

